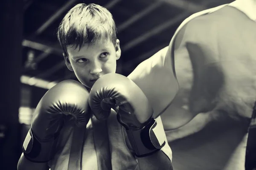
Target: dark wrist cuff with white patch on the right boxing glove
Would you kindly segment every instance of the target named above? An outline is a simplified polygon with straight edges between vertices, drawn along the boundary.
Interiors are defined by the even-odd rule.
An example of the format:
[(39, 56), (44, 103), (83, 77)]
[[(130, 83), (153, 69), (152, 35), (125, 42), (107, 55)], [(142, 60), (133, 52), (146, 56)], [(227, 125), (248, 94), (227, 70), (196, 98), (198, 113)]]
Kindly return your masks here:
[[(120, 117), (118, 120), (123, 125)], [(153, 118), (147, 122), (143, 127), (127, 127), (123, 125), (137, 157), (152, 155), (166, 144), (164, 138), (158, 134), (159, 132), (161, 133), (161, 130), (159, 130), (157, 122)]]

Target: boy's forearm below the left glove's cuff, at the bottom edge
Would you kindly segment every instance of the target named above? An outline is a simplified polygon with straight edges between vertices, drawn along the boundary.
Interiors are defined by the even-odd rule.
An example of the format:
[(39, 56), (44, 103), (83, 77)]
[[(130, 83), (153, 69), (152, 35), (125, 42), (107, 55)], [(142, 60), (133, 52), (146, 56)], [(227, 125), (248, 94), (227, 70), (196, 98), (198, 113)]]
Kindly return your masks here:
[(29, 161), (22, 153), (18, 161), (17, 170), (49, 170), (49, 167), (47, 166), (47, 162), (35, 163)]

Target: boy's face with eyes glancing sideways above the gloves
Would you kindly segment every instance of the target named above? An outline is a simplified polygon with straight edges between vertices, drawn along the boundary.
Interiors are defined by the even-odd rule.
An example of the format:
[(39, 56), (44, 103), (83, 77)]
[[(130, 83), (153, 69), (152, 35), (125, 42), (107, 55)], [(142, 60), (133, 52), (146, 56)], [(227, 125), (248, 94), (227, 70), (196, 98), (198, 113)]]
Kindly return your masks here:
[(109, 40), (100, 40), (93, 44), (84, 44), (79, 48), (70, 45), (64, 56), (67, 68), (74, 71), (77, 79), (92, 88), (99, 77), (116, 72), (116, 60), (121, 56), (119, 40), (113, 44)]

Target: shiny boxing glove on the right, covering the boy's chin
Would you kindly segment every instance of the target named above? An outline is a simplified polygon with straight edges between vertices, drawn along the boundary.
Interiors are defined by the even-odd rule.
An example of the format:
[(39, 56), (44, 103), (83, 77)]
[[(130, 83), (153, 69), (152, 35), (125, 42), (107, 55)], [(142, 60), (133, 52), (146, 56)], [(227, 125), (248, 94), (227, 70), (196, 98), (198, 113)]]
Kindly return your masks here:
[(137, 157), (148, 156), (164, 146), (165, 141), (158, 140), (154, 133), (159, 126), (151, 117), (153, 109), (147, 97), (127, 77), (112, 73), (100, 77), (94, 83), (88, 101), (99, 120), (107, 119), (111, 108), (116, 111), (117, 120), (125, 127)]

